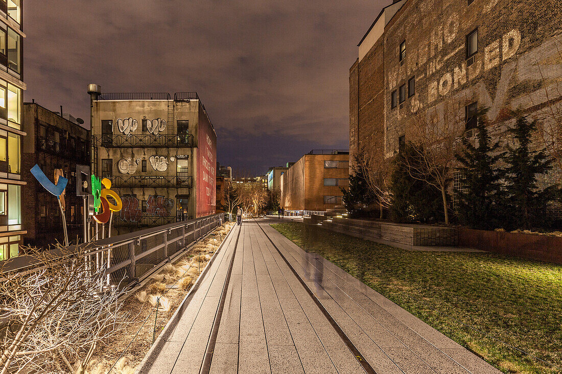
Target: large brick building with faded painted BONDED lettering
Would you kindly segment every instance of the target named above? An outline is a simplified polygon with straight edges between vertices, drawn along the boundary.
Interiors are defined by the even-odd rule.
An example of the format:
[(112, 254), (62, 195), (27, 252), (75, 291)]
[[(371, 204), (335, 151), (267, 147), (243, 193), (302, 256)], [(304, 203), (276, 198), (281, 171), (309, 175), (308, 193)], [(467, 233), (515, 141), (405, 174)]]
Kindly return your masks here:
[(487, 108), (497, 139), (513, 125), (512, 110), (546, 126), (547, 97), (561, 105), (561, 51), (557, 0), (389, 4), (350, 69), (350, 152), (368, 147), (380, 159), (392, 157), (413, 140), (409, 126), (419, 113), (459, 118), (460, 133), (474, 136), (474, 114)]

